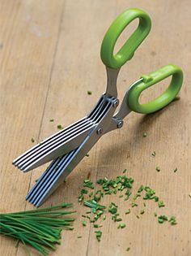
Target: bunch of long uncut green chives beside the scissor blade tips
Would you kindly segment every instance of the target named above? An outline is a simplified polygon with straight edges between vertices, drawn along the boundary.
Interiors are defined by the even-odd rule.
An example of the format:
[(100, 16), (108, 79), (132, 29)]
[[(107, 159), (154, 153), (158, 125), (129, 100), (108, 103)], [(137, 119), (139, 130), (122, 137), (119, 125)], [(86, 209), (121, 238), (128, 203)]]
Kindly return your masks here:
[(49, 249), (55, 250), (55, 244), (60, 244), (62, 229), (73, 229), (74, 218), (63, 218), (62, 215), (75, 211), (61, 210), (66, 206), (72, 204), (63, 203), (44, 209), (0, 214), (0, 234), (14, 237), (18, 243), (21, 241), (29, 255), (27, 245), (32, 245), (43, 255), (48, 255)]

